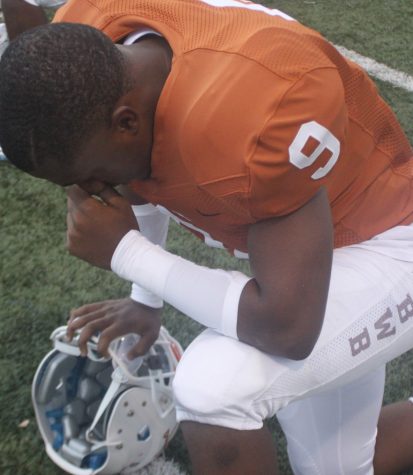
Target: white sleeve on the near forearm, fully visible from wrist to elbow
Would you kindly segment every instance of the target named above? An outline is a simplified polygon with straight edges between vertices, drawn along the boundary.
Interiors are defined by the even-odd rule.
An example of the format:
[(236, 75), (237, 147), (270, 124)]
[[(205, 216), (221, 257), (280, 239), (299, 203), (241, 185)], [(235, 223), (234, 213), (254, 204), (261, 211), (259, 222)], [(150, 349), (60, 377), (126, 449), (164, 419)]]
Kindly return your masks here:
[(237, 338), (238, 305), (249, 277), (199, 266), (129, 231), (111, 262), (120, 277), (153, 292), (206, 327)]

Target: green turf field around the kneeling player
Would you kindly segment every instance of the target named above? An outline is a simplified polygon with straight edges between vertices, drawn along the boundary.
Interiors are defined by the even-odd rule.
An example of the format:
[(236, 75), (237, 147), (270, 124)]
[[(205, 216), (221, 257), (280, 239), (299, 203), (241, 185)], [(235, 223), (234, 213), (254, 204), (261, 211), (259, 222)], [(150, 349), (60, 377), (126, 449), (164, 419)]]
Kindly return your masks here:
[[(318, 29), (335, 44), (413, 75), (411, 0), (265, 3)], [(384, 82), (378, 87), (413, 141), (413, 93)], [(67, 254), (65, 196), (61, 189), (23, 175), (4, 162), (0, 162), (0, 181), (0, 474), (56, 475), (63, 472), (45, 455), (33, 419), (30, 385), (34, 371), (50, 348), (50, 332), (66, 322), (71, 308), (126, 296), (129, 285)], [(245, 264), (240, 265), (224, 252), (207, 249), (175, 226), (170, 231), (168, 248), (201, 264), (248, 272)], [(183, 346), (201, 329), (169, 307), (164, 322)], [(412, 369), (412, 353), (388, 366), (385, 402), (412, 394)], [(25, 419), (30, 421), (28, 427), (19, 428)], [(272, 421), (271, 427), (279, 447), (281, 473), (289, 475), (282, 436), (276, 422)], [(180, 434), (167, 456), (190, 473)]]

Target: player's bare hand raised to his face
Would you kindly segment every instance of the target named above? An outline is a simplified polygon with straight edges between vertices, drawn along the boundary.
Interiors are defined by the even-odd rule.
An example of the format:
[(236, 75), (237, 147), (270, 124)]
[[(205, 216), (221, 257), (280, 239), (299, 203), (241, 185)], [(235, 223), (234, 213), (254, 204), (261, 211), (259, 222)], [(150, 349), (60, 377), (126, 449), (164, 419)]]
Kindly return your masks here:
[(110, 269), (116, 246), (131, 229), (139, 229), (129, 202), (110, 186), (98, 199), (77, 185), (67, 188), (67, 248), (90, 264)]

